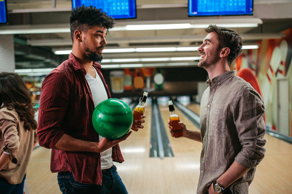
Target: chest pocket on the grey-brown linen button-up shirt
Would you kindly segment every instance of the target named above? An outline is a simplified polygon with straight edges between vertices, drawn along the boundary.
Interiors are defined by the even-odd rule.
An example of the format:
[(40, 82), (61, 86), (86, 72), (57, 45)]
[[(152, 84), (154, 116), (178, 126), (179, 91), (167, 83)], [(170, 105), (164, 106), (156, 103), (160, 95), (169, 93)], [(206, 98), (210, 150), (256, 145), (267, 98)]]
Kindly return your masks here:
[(226, 115), (225, 110), (215, 109), (210, 112), (209, 130), (212, 133), (225, 133)]

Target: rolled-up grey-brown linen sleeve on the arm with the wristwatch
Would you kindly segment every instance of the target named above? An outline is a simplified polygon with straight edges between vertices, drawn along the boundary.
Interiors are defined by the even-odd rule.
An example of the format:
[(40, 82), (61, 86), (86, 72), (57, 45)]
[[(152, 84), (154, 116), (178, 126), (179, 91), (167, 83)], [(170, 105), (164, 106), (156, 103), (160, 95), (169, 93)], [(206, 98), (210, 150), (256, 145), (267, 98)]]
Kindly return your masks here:
[(234, 124), (242, 145), (235, 161), (244, 168), (251, 169), (259, 164), (266, 151), (264, 103), (258, 92), (243, 87), (234, 99), (233, 110)]

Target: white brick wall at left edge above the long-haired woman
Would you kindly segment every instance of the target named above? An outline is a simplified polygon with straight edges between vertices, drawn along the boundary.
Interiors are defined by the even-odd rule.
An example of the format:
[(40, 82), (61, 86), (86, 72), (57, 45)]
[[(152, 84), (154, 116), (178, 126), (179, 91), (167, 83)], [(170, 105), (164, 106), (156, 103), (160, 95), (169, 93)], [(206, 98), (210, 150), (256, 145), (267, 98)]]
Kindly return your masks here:
[(14, 72), (14, 69), (13, 35), (0, 35), (0, 72)]

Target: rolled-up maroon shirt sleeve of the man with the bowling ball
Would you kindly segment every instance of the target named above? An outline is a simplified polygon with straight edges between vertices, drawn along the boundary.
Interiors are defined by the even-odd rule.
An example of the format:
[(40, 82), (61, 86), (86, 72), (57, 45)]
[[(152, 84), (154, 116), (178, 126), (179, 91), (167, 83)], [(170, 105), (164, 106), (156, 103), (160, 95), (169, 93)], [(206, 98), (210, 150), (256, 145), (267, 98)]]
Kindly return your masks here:
[(67, 79), (58, 70), (43, 80), (37, 127), (40, 146), (51, 149), (64, 135), (60, 126), (69, 105), (69, 94)]

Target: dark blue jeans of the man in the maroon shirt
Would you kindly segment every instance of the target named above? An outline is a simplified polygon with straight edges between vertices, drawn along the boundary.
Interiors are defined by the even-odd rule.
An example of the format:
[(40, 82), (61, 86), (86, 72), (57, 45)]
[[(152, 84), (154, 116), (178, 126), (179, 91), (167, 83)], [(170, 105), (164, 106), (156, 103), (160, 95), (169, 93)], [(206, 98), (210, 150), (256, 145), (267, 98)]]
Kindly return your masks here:
[(71, 172), (59, 172), (58, 184), (62, 194), (128, 194), (115, 165), (102, 170), (102, 174), (102, 185), (97, 185), (79, 183)]

